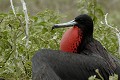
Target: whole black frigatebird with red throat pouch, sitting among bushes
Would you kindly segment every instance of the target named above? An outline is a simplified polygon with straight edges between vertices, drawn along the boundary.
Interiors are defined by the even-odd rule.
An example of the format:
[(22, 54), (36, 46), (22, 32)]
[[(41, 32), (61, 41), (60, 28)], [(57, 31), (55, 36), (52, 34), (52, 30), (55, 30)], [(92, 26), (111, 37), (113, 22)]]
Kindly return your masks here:
[(88, 80), (96, 75), (96, 78), (109, 80), (114, 74), (120, 79), (120, 61), (93, 38), (91, 17), (82, 14), (70, 22), (55, 24), (52, 29), (70, 26), (73, 27), (61, 39), (60, 50), (43, 49), (33, 56), (32, 79)]

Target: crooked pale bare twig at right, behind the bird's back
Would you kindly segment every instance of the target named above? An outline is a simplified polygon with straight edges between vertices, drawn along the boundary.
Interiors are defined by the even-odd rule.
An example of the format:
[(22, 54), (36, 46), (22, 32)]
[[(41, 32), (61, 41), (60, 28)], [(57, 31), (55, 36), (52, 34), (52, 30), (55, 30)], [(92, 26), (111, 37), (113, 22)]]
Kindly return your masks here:
[(115, 31), (115, 34), (116, 34), (116, 36), (117, 36), (117, 38), (118, 38), (118, 53), (119, 53), (119, 55), (120, 55), (120, 31), (117, 29), (117, 28), (115, 28), (115, 27), (112, 27), (111, 25), (109, 25), (108, 24), (108, 22), (107, 22), (107, 15), (108, 15), (108, 13), (105, 15), (105, 24), (108, 26), (108, 27), (110, 27), (110, 28), (112, 28), (114, 31)]

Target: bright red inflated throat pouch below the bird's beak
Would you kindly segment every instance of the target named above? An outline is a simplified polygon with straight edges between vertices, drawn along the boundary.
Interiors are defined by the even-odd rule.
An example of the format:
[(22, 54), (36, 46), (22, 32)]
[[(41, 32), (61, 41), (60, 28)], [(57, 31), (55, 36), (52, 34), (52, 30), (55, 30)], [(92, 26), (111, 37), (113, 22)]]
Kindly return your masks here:
[(82, 31), (78, 27), (68, 29), (60, 42), (60, 49), (64, 52), (77, 52), (82, 39)]

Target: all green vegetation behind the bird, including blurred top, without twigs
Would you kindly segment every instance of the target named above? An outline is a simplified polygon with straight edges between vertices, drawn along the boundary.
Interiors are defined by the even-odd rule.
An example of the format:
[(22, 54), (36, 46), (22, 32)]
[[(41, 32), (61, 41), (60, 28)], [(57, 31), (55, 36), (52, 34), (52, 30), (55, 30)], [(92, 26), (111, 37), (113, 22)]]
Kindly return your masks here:
[[(6, 80), (31, 79), (31, 58), (42, 48), (59, 49), (65, 29), (53, 30), (55, 23), (74, 19), (79, 14), (92, 16), (94, 37), (113, 55), (118, 55), (116, 32), (108, 23), (120, 30), (119, 0), (26, 0), (29, 14), (29, 44), (26, 47), (25, 16), (20, 0), (14, 0), (16, 15), (9, 0), (0, 0), (0, 77)], [(104, 24), (101, 24), (104, 23)], [(12, 77), (11, 77), (12, 76)]]

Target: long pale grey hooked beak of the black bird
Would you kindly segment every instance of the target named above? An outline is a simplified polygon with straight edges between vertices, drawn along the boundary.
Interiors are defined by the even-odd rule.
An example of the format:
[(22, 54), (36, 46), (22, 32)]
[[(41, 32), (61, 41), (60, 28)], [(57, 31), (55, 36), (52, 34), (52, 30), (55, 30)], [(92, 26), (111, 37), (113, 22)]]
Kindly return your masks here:
[(55, 29), (55, 28), (71, 27), (71, 26), (74, 26), (76, 24), (77, 24), (77, 22), (75, 20), (72, 20), (72, 21), (69, 21), (69, 22), (66, 22), (66, 23), (61, 23), (61, 24), (55, 24), (52, 27), (52, 30)]

